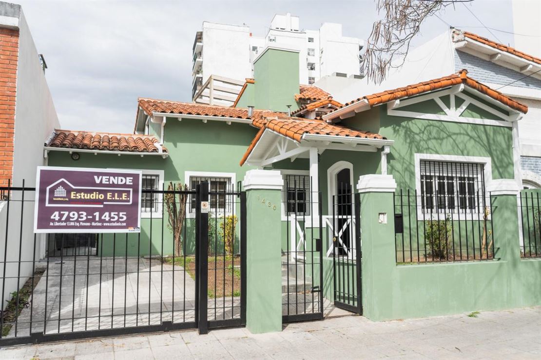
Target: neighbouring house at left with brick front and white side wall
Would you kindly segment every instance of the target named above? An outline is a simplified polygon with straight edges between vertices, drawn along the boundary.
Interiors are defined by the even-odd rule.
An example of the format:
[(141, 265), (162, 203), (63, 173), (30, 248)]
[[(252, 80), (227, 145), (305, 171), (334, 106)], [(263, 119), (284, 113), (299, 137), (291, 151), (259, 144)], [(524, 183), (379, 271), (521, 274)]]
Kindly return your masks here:
[[(43, 141), (47, 140), (52, 130), (58, 127), (58, 118), (51, 94), (45, 80), (45, 61), (38, 54), (30, 34), (21, 5), (0, 2), (0, 81), (3, 83), (0, 97), (0, 117), (2, 118), (2, 157), (0, 157), (0, 186), (27, 187), (35, 186), (36, 166), (47, 165), (43, 158)], [(6, 200), (8, 192), (2, 192)], [(8, 201), (0, 202), (0, 227), (6, 231), (6, 216), (9, 207), (8, 236), (13, 242), (4, 254), (5, 237), (0, 240), (0, 261), (15, 261), (19, 255), (19, 239), (33, 239), (32, 227), (21, 229), (21, 216), (27, 223), (34, 221), (31, 206), (24, 208), (21, 214), (21, 194), (13, 194)], [(27, 199), (34, 193), (27, 193)], [(21, 234), (22, 232), (22, 234)], [(19, 237), (20, 236), (20, 237)], [(45, 253), (45, 241), (41, 234), (36, 235), (36, 243), (24, 241), (21, 252), (36, 254), (41, 259)], [(31, 255), (30, 255), (31, 257)], [(31, 275), (31, 263), (23, 263), (17, 269), (14, 262), (6, 263), (6, 274), (21, 277)], [(0, 266), (0, 277), (3, 276)], [(17, 287), (16, 279), (6, 280), (4, 298)]]

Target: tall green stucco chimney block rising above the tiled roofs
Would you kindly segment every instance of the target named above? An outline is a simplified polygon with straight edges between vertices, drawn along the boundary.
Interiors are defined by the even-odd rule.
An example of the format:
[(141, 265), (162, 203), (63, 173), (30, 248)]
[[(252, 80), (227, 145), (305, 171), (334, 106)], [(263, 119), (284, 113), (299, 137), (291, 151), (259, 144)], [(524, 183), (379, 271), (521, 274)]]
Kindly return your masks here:
[(299, 93), (299, 53), (268, 49), (254, 63), (255, 108), (287, 111), (298, 108), (294, 96)]

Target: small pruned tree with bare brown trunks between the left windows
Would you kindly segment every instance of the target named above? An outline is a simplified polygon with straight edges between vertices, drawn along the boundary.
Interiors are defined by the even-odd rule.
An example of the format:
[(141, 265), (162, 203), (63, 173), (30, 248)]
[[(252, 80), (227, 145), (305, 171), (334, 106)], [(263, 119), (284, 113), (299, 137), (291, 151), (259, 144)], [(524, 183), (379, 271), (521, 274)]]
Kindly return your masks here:
[(173, 233), (175, 256), (182, 255), (181, 234), (184, 219), (186, 218), (186, 202), (188, 200), (188, 194), (186, 193), (187, 189), (187, 185), (169, 182), (169, 185), (167, 186), (168, 193), (163, 195), (163, 200), (169, 215), (167, 227)]

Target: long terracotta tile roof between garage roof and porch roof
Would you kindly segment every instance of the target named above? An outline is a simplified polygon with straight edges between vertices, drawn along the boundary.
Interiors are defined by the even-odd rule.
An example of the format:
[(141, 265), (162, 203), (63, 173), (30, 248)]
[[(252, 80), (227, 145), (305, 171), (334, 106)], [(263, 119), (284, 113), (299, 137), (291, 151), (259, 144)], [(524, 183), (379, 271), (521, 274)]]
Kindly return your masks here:
[(181, 103), (180, 101), (156, 100), (147, 98), (139, 98), (138, 102), (139, 106), (149, 116), (151, 116), (153, 113), (164, 113), (251, 120), (262, 116), (276, 116), (283, 114), (271, 110), (254, 110), (252, 117), (249, 117), (248, 110), (245, 108)]

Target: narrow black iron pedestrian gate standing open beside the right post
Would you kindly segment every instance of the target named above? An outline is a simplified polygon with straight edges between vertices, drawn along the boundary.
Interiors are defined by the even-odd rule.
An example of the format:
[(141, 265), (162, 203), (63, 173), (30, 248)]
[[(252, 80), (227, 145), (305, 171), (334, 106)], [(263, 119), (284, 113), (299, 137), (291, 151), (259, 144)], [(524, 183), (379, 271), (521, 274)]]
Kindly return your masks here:
[[(353, 201), (354, 200), (354, 201)], [(362, 314), (360, 195), (351, 187), (333, 196), (334, 305)]]

